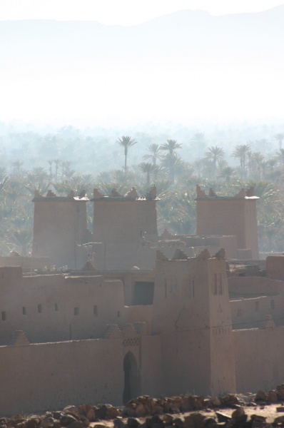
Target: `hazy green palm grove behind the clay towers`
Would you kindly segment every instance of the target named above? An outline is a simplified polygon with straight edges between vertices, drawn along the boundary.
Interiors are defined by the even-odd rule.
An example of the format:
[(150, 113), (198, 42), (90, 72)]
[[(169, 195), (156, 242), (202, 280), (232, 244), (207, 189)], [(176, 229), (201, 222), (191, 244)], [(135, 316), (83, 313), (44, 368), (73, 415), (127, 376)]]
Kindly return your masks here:
[[(234, 195), (240, 188), (253, 185), (260, 197), (260, 251), (284, 249), (284, 133), (272, 137), (274, 150), (263, 139), (236, 144), (230, 153), (208, 143), (204, 133), (194, 133), (190, 139), (196, 155), (192, 162), (184, 158), (183, 143), (170, 138), (157, 143), (143, 136), (141, 143), (139, 136), (121, 136), (114, 139), (109, 148), (105, 147), (102, 155), (98, 147), (94, 153), (94, 138), (86, 136), (88, 161), (84, 161), (83, 170), (77, 170), (73, 158), (67, 160), (71, 159), (71, 153), (72, 156), (78, 154), (77, 161), (82, 156), (80, 136), (45, 136), (38, 141), (33, 133), (28, 134), (9, 136), (10, 141), (14, 138), (18, 141), (10, 165), (7, 165), (7, 149), (4, 144), (0, 146), (0, 255), (7, 255), (11, 250), (29, 255), (34, 190), (43, 195), (50, 188), (57, 195), (86, 190), (91, 198), (94, 187), (109, 195), (113, 188), (125, 194), (134, 185), (138, 194), (146, 195), (155, 184), (160, 199), (157, 203), (159, 232), (168, 228), (171, 233), (194, 234), (196, 183), (206, 191), (213, 188), (219, 195)], [(39, 156), (31, 150), (35, 143)], [(136, 151), (140, 145), (140, 151)], [(56, 156), (52, 157), (51, 153)], [(106, 168), (95, 174), (97, 163)], [(88, 226), (92, 229), (91, 204), (88, 204)]]

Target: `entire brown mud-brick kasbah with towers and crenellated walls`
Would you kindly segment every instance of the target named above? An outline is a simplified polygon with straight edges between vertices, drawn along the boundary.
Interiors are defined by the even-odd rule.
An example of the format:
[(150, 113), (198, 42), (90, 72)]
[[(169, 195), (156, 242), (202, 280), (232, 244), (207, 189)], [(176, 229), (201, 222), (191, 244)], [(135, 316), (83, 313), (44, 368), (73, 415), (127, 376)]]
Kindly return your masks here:
[(284, 256), (259, 260), (254, 189), (196, 190), (197, 235), (161, 236), (155, 187), (35, 193), (33, 255), (0, 258), (1, 409), (283, 383)]

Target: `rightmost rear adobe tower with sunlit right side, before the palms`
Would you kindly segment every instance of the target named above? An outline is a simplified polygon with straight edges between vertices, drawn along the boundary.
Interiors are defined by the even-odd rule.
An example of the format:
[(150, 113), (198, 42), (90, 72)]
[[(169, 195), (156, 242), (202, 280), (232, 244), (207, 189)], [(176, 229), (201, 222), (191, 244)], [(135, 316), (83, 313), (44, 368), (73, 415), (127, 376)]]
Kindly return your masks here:
[(254, 188), (241, 189), (235, 196), (206, 195), (196, 185), (196, 233), (198, 235), (235, 235), (240, 250), (251, 250), (258, 259), (258, 231)]

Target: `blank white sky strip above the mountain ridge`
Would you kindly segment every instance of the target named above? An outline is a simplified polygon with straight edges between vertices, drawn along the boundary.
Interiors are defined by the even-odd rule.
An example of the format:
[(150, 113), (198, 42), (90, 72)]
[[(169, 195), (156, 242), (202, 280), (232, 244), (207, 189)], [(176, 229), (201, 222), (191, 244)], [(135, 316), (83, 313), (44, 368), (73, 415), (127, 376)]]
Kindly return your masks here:
[(3, 19), (79, 19), (133, 25), (183, 9), (211, 14), (258, 12), (281, 0), (0, 0)]

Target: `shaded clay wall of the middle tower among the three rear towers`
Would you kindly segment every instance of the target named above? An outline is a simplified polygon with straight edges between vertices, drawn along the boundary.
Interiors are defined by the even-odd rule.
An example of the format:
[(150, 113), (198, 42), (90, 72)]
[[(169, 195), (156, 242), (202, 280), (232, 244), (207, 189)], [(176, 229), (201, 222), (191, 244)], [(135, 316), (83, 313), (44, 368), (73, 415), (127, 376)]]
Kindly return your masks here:
[(158, 243), (156, 201), (95, 200), (93, 207), (93, 241), (104, 246), (98, 265), (110, 270), (152, 268), (153, 261), (147, 257), (140, 263), (137, 253), (143, 241)]

